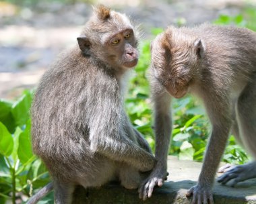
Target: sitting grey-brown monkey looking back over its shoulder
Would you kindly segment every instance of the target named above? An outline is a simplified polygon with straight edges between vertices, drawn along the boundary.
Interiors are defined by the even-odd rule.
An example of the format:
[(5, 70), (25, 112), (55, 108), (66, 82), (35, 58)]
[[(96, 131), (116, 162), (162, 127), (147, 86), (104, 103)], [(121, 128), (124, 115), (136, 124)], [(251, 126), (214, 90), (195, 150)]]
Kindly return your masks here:
[[(71, 203), (76, 185), (120, 181), (137, 189), (156, 159), (125, 113), (125, 79), (139, 58), (129, 18), (94, 8), (77, 44), (65, 50), (37, 87), (31, 108), (32, 149), (46, 165), (55, 203)], [(36, 203), (38, 196), (31, 203)]]

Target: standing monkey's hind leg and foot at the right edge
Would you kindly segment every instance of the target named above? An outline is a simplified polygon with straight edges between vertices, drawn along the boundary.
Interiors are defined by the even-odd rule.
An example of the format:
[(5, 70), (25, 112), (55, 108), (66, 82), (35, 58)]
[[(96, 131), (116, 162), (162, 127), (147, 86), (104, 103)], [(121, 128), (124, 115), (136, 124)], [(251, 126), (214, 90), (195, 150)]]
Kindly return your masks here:
[[(239, 134), (242, 136), (243, 146), (256, 159), (256, 76), (251, 80), (240, 97), (236, 105), (236, 115), (238, 118)], [(222, 184), (231, 181), (234, 187), (236, 183), (256, 177), (256, 160), (248, 164), (233, 166), (222, 169), (224, 174), (218, 178)]]

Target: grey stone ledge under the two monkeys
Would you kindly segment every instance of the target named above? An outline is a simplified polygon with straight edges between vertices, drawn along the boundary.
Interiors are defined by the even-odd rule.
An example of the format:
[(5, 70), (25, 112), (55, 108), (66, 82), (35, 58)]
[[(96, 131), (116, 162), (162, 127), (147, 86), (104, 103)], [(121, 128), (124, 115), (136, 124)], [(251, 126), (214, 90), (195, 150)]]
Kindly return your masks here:
[[(119, 185), (106, 185), (100, 189), (77, 188), (73, 203), (90, 204), (189, 204), (191, 201), (185, 197), (187, 189), (197, 183), (201, 170), (200, 162), (181, 161), (174, 156), (168, 157), (168, 180), (161, 188), (156, 188), (150, 199), (142, 201), (138, 198), (136, 190), (127, 190)], [(215, 204), (256, 204), (256, 179), (239, 183), (235, 188), (214, 185)]]

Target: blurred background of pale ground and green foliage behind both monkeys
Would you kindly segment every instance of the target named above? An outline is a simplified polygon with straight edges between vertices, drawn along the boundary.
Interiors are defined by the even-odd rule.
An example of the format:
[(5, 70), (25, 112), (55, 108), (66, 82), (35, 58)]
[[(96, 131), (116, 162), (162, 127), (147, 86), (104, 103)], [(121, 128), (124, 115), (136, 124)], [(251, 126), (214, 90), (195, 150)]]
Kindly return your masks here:
[[(98, 3), (126, 13), (143, 33), (125, 107), (152, 150), (155, 142), (147, 80), (150, 40), (170, 24), (192, 26), (205, 21), (256, 31), (256, 0), (0, 0), (0, 204), (25, 203), (51, 181), (44, 164), (32, 154), (30, 105), (34, 89), (57, 54), (77, 43), (92, 5)], [(180, 160), (202, 161), (210, 123), (200, 101), (190, 95), (173, 100), (172, 113), (169, 154)], [(230, 136), (222, 161), (243, 164), (248, 160), (250, 156)], [(168, 177), (172, 179), (171, 174)], [(53, 203), (53, 193), (40, 201), (43, 203)]]

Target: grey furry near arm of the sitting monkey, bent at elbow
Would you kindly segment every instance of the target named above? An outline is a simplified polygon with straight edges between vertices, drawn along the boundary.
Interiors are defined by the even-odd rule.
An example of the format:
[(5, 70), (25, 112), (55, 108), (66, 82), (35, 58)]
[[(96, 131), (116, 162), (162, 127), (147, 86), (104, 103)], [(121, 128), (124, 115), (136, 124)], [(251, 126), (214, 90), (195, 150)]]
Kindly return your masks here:
[(102, 97), (100, 100), (94, 108), (101, 111), (92, 115), (89, 121), (91, 150), (111, 160), (126, 162), (143, 172), (152, 170), (156, 159), (137, 145), (133, 127), (126, 121), (127, 115), (120, 101), (117, 97)]

